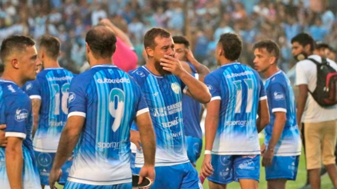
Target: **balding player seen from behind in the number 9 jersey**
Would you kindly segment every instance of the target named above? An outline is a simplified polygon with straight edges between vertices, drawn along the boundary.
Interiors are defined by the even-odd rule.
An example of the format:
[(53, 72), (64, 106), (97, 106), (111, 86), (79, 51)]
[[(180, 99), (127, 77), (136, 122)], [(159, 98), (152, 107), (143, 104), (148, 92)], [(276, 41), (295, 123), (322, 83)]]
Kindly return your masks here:
[(50, 174), (50, 186), (75, 145), (74, 160), (65, 189), (130, 189), (130, 126), (138, 124), (145, 164), (143, 177), (154, 179), (155, 136), (149, 108), (136, 84), (112, 63), (116, 50), (114, 32), (104, 26), (86, 36), (86, 57), (91, 66), (73, 78), (69, 113)]

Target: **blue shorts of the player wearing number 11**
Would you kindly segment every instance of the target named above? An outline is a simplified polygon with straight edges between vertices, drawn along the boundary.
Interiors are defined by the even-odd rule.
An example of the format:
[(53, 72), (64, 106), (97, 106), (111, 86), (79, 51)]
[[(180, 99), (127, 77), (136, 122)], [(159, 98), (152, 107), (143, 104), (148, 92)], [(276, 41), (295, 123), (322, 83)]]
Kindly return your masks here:
[(260, 155), (212, 154), (213, 175), (207, 179), (217, 184), (228, 184), (239, 179), (260, 178)]

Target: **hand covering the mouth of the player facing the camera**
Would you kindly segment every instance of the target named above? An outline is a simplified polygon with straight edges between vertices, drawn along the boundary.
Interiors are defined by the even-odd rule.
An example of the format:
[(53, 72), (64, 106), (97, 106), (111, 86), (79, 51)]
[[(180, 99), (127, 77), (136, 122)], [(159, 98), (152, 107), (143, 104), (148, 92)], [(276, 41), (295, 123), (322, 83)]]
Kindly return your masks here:
[(164, 55), (164, 58), (160, 59), (160, 65), (163, 66), (164, 70), (171, 72), (178, 77), (184, 72), (184, 68), (177, 58), (177, 53), (174, 54), (174, 57)]

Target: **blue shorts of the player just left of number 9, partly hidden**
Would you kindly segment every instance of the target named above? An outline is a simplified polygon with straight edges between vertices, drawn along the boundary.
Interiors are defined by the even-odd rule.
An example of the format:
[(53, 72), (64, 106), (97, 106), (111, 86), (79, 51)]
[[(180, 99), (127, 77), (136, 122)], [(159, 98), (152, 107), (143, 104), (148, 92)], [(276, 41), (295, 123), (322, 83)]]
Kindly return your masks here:
[[(53, 166), (53, 161), (55, 158), (55, 154), (53, 152), (38, 152), (34, 151), (35, 158), (37, 161), (37, 168), (40, 173), (40, 180), (42, 185), (49, 185), (48, 178), (50, 175), (50, 170)], [(61, 185), (64, 185), (67, 182), (67, 178), (70, 172), (70, 167), (72, 165), (73, 155), (68, 158), (68, 160), (61, 167), (62, 175), (60, 181), (58, 182)]]

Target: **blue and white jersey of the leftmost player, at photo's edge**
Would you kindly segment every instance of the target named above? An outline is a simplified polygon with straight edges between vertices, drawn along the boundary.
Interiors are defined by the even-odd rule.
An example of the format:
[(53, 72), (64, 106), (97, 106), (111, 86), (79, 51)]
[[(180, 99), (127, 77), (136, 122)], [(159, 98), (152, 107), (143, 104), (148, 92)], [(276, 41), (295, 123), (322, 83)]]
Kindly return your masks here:
[[(23, 139), (23, 186), (41, 188), (32, 146), (33, 115), (27, 94), (14, 82), (0, 79), (0, 125), (5, 124), (6, 137)], [(10, 161), (10, 159), (6, 159)], [(0, 186), (10, 188), (6, 173), (5, 148), (0, 147)]]

